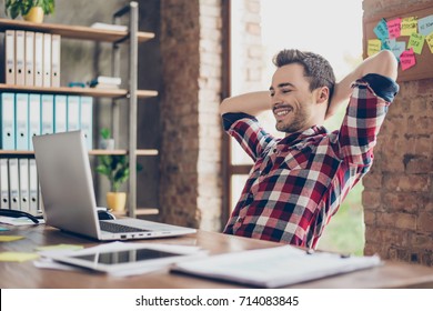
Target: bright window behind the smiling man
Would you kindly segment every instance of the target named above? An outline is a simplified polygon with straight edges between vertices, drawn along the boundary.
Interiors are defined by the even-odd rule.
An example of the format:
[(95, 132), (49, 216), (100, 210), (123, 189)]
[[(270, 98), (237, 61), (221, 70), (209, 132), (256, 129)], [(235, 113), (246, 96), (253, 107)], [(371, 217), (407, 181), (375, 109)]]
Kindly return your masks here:
[[(322, 54), (333, 66), (338, 80), (362, 61), (362, 0), (234, 0), (230, 3), (232, 96), (269, 89), (275, 70), (272, 58), (282, 49), (296, 48)], [(260, 11), (259, 6), (255, 6), (258, 3)], [(343, 116), (344, 109), (326, 122), (326, 128), (338, 129)], [(274, 130), (271, 113), (260, 116), (259, 119), (266, 130), (281, 136)], [(230, 139), (229, 144), (230, 160), (224, 181), (229, 184), (229, 210), (223, 213), (226, 217), (239, 199), (252, 164), (252, 160), (234, 140)], [(320, 248), (362, 253), (364, 231), (361, 192), (362, 184), (351, 192), (346, 203), (325, 229)], [(340, 217), (343, 219), (339, 220)], [(345, 223), (348, 219), (351, 222)], [(223, 219), (222, 222), (225, 221)], [(349, 230), (353, 228), (356, 229), (355, 234)], [(346, 238), (348, 234), (353, 238), (338, 241), (339, 237)], [(355, 249), (352, 248), (352, 240), (356, 240)]]

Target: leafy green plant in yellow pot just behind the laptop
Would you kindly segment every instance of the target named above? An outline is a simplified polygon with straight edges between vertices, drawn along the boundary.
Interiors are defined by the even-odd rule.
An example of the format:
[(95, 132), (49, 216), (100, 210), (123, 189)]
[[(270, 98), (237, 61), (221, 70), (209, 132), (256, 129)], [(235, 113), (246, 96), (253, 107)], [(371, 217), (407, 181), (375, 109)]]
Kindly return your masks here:
[(127, 193), (119, 192), (120, 187), (130, 175), (129, 160), (124, 154), (99, 156), (97, 172), (103, 174), (110, 181), (110, 191), (107, 192), (107, 205), (118, 212), (124, 211)]

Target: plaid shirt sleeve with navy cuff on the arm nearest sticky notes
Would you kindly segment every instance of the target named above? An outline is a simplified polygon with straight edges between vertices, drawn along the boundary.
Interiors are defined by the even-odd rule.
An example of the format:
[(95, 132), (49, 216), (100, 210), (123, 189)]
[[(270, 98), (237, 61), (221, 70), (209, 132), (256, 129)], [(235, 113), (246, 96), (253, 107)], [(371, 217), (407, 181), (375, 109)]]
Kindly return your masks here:
[(353, 91), (340, 129), (339, 144), (343, 161), (369, 165), (373, 159), (379, 130), (394, 100), (399, 86), (380, 74), (366, 74), (352, 84)]

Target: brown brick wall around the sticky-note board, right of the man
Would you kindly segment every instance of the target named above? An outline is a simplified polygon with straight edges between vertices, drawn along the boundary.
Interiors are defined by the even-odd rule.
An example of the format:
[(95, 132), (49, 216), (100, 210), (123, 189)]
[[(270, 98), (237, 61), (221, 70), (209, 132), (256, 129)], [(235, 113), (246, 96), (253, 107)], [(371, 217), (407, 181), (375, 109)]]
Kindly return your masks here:
[[(364, 17), (427, 2), (364, 0)], [(433, 79), (400, 87), (363, 180), (365, 253), (433, 265)]]

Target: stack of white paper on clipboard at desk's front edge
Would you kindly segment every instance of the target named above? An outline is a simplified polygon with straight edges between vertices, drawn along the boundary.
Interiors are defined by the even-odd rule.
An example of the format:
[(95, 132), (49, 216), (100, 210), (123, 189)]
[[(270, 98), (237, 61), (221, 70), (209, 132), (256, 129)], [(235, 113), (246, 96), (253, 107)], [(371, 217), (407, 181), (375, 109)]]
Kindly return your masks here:
[(379, 264), (381, 260), (376, 255), (310, 254), (285, 245), (180, 262), (172, 270), (262, 288), (279, 288)]

